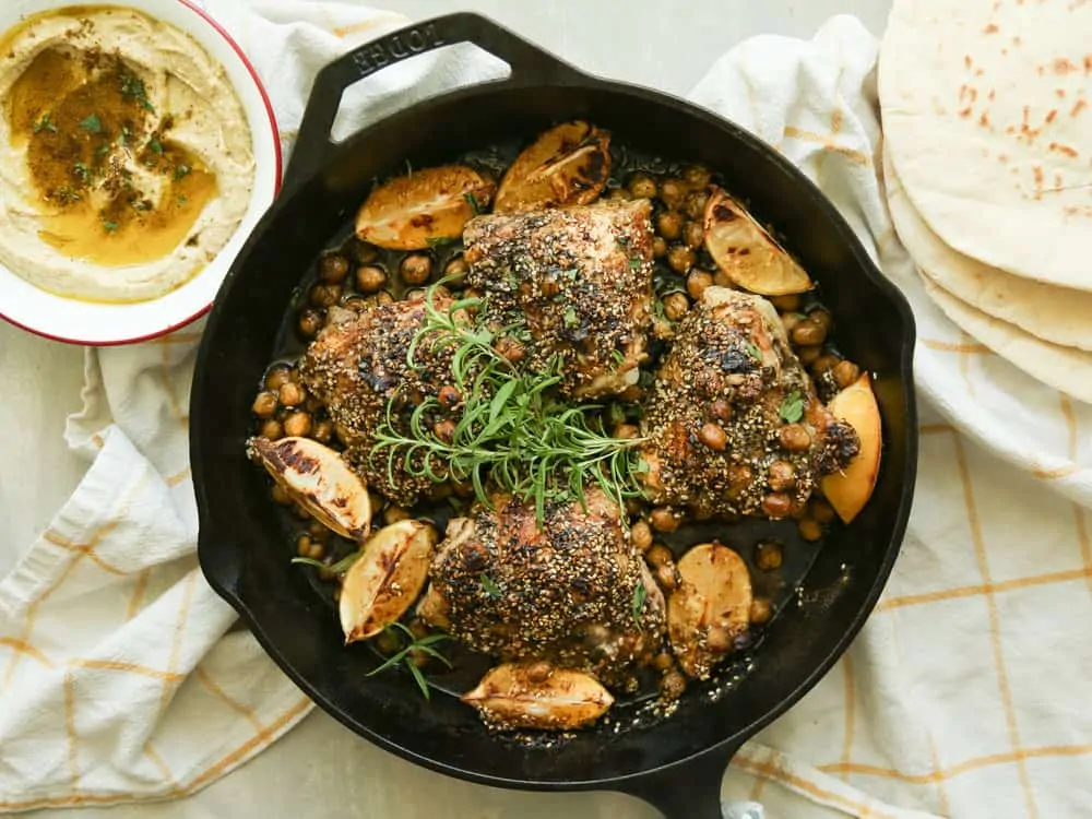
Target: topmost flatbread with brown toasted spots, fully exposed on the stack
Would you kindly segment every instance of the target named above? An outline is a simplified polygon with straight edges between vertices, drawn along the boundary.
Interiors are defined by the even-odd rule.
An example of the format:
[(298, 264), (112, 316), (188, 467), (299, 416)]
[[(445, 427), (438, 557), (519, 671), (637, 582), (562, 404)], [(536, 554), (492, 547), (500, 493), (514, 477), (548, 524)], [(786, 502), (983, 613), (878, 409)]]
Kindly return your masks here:
[(947, 245), (1092, 289), (1090, 44), (1090, 0), (894, 0), (883, 130), (910, 200)]

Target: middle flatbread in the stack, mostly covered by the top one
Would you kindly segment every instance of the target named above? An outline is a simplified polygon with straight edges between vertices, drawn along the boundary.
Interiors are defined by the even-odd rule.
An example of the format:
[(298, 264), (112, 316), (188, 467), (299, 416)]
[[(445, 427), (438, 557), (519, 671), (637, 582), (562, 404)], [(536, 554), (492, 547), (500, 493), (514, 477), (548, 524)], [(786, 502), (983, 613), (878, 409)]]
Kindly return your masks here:
[(961, 301), (1043, 341), (1092, 351), (1092, 293), (1013, 276), (952, 250), (906, 198), (887, 145), (882, 154), (891, 221), (925, 276)]

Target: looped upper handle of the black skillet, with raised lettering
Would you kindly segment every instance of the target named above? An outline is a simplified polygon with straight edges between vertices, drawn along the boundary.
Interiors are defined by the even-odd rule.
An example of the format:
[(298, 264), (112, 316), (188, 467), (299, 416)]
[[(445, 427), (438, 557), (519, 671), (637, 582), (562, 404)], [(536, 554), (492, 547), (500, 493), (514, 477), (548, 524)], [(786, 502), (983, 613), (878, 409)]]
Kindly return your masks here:
[(403, 60), (459, 43), (473, 43), (509, 64), (511, 75), (498, 85), (586, 81), (569, 63), (480, 14), (458, 12), (414, 23), (358, 46), (319, 71), (284, 175), (285, 187), (308, 178), (333, 150), (331, 129), (349, 86)]

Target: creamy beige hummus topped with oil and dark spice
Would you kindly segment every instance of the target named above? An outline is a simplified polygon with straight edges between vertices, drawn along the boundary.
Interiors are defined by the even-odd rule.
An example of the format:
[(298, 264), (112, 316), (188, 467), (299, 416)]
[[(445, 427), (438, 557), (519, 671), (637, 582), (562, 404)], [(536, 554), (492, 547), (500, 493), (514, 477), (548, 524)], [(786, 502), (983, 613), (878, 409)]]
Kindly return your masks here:
[(250, 203), (246, 112), (189, 35), (70, 7), (0, 36), (0, 263), (92, 301), (192, 278)]

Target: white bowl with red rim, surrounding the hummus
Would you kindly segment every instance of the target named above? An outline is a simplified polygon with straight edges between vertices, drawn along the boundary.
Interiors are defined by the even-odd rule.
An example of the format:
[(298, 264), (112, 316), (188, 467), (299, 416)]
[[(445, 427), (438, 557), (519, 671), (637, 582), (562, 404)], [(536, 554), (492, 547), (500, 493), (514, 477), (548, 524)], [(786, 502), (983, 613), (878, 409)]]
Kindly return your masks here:
[[(250, 205), (232, 239), (197, 276), (157, 299), (110, 305), (63, 298), (38, 289), (0, 265), (0, 318), (47, 339), (93, 346), (147, 341), (203, 316), (281, 185), (281, 140), (273, 106), (253, 66), (232, 36), (188, 0), (107, 0), (105, 4), (138, 9), (177, 26), (224, 66), (250, 121), (256, 173)], [(70, 5), (76, 3), (2, 0), (0, 35), (31, 14)]]

